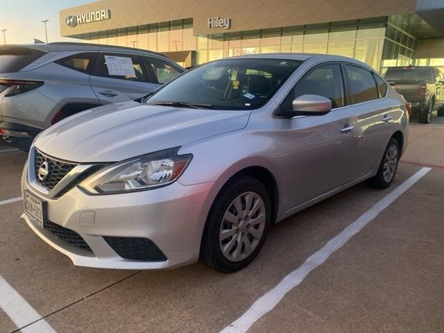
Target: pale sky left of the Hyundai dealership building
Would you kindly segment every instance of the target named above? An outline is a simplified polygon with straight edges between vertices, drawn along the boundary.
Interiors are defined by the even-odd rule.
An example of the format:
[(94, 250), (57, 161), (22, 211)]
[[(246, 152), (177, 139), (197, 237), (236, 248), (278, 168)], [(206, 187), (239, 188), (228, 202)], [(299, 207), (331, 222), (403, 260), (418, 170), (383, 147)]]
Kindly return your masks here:
[[(60, 37), (58, 12), (93, 0), (0, 0), (0, 30), (7, 29), (7, 44), (30, 44), (34, 38), (45, 40), (43, 19), (48, 29), (48, 42), (75, 41)], [(3, 44), (3, 33), (0, 33)]]

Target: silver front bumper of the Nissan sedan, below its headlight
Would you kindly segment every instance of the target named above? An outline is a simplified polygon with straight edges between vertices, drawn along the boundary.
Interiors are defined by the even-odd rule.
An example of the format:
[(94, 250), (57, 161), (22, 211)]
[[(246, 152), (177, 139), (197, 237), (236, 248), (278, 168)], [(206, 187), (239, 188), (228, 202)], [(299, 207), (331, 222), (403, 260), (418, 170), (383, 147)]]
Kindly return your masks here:
[[(89, 196), (74, 187), (58, 199), (46, 198), (28, 182), (23, 191), (46, 201), (46, 218), (76, 232), (91, 251), (60, 239), (53, 232), (22, 218), (47, 244), (67, 255), (76, 266), (119, 269), (165, 269), (196, 262), (210, 207), (205, 205), (213, 183), (184, 186), (179, 182), (128, 194)], [(149, 239), (167, 257), (159, 262), (124, 259), (103, 237)]]

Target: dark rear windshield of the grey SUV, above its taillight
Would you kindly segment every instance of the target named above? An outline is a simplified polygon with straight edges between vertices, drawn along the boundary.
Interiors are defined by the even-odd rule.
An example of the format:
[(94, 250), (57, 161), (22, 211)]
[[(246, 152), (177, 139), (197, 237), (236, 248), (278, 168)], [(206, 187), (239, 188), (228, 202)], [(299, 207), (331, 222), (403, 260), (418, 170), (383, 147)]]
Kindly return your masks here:
[(44, 54), (46, 52), (22, 46), (0, 46), (0, 74), (15, 73)]

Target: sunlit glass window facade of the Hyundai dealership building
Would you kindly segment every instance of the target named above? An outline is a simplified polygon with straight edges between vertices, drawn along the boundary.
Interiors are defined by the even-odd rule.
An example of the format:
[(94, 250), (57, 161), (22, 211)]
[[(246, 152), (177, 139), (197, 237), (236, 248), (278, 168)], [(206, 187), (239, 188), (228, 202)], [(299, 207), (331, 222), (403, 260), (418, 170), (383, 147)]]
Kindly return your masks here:
[(195, 51), (196, 64), (256, 53), (333, 54), (356, 58), (382, 73), (390, 66), (413, 63), (416, 49), (415, 38), (389, 23), (387, 17), (217, 36), (195, 36), (192, 19), (182, 19), (88, 33), (85, 39), (167, 53), (167, 56), (168, 52)]

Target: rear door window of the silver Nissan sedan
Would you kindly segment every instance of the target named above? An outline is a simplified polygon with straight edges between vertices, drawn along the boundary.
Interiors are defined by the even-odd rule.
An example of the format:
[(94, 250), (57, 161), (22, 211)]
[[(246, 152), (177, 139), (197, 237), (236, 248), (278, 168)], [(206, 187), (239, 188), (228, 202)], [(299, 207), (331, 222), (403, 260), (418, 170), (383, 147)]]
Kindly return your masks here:
[(370, 71), (352, 65), (345, 65), (345, 69), (353, 104), (378, 99), (376, 82)]

